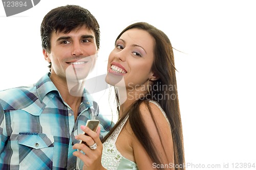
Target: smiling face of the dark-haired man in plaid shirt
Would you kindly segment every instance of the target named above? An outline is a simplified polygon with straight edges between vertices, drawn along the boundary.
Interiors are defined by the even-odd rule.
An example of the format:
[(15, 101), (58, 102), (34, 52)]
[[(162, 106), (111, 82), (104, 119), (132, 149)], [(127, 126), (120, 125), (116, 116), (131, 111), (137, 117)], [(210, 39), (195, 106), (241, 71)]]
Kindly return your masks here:
[(51, 50), (43, 51), (45, 59), (52, 63), (51, 79), (78, 81), (85, 79), (93, 68), (97, 46), (95, 34), (86, 26), (70, 33), (52, 32)]

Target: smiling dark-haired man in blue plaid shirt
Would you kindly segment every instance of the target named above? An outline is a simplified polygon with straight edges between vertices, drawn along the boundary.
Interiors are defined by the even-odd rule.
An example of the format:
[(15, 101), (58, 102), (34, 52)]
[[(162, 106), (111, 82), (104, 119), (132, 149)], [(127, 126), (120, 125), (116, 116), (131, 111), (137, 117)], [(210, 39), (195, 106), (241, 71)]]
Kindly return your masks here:
[(95, 17), (79, 6), (55, 8), (42, 20), (41, 40), (50, 72), (33, 87), (0, 92), (0, 169), (75, 169), (80, 126), (96, 116), (101, 137), (113, 126), (84, 89), (99, 50)]

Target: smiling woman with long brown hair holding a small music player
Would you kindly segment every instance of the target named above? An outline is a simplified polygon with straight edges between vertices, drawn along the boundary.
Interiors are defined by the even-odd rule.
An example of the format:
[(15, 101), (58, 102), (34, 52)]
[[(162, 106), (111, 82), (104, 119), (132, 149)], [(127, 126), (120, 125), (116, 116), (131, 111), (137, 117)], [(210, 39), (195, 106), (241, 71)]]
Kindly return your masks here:
[(74, 145), (86, 153), (74, 152), (84, 169), (185, 169), (175, 71), (173, 47), (162, 31), (138, 22), (120, 33), (105, 78), (115, 86), (118, 122), (103, 145), (81, 127), (89, 136), (76, 138), (97, 144), (95, 150)]

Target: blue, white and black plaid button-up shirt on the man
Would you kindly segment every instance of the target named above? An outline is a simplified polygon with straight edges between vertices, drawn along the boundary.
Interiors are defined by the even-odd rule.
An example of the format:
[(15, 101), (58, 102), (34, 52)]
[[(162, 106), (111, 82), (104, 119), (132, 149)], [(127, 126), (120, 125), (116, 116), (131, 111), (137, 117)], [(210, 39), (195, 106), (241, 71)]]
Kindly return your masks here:
[[(33, 87), (0, 92), (0, 169), (76, 169), (72, 145), (79, 141), (74, 136), (82, 133), (79, 127), (92, 118), (97, 104), (84, 90), (75, 122), (49, 75)], [(102, 137), (113, 124), (101, 114), (96, 119)]]

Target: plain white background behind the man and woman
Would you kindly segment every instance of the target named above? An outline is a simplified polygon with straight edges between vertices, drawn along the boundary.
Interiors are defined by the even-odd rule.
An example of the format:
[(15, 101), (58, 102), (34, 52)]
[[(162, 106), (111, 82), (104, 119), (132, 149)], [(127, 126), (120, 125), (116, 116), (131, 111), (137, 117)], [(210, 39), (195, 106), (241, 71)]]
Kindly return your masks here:
[[(99, 22), (96, 75), (106, 72), (117, 35), (135, 21), (164, 31), (183, 52), (174, 51), (187, 169), (246, 169), (232, 168), (240, 162), (256, 166), (253, 1), (41, 0), (11, 17), (0, 5), (0, 90), (35, 83), (48, 71), (40, 23), (51, 9), (67, 4), (87, 8)], [(98, 96), (101, 111), (110, 115), (108, 92)], [(208, 164), (220, 167), (202, 168)]]

